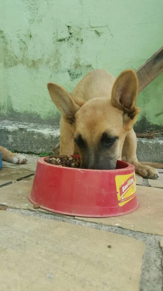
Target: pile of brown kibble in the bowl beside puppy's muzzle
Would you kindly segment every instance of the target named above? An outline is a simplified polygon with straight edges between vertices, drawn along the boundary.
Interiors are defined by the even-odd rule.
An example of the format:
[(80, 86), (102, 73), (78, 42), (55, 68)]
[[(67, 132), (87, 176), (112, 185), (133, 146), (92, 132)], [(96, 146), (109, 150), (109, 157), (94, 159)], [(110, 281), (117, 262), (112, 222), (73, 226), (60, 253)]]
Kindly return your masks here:
[(45, 162), (56, 166), (80, 168), (80, 159), (72, 156), (50, 156), (45, 159)]

